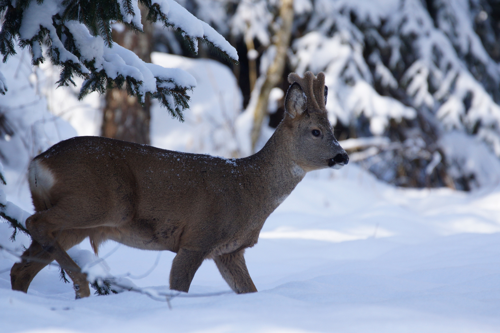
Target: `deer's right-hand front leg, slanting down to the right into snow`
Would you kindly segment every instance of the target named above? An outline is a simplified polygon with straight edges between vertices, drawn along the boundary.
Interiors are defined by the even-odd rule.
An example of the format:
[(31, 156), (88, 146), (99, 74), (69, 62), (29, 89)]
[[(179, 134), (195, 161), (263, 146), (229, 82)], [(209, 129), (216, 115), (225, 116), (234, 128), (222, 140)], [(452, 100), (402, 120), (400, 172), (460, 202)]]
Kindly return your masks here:
[(236, 294), (255, 293), (257, 291), (253, 281), (251, 281), (250, 274), (248, 274), (245, 258), (243, 257), (244, 252), (243, 249), (213, 258), (220, 275)]

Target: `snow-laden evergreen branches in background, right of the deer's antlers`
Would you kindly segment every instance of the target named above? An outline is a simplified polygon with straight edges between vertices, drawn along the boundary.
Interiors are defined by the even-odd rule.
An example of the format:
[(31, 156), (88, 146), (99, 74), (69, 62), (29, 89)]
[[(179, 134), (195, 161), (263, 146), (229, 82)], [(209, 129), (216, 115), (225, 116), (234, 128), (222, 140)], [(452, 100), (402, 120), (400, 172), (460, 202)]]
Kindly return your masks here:
[[(442, 158), (438, 144), (449, 130), (479, 136), (500, 156), (500, 107), (494, 100), (500, 66), (473, 29), (479, 1), (313, 4), (305, 33), (292, 44), (296, 71), (325, 71), (326, 108), (344, 129), (340, 136), (387, 136), (400, 143), (367, 154), (365, 167), (398, 185), (452, 185), (446, 161), (454, 156)], [(464, 185), (464, 175), (450, 175), (458, 188), (484, 185)]]

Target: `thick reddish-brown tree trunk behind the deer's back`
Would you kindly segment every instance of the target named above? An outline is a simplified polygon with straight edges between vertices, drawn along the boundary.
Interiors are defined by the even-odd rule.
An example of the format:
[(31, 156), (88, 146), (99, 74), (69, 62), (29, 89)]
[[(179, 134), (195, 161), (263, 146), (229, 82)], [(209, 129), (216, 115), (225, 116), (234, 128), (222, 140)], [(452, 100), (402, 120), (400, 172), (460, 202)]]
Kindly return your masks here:
[[(153, 26), (145, 19), (147, 10), (140, 6), (144, 33), (134, 33), (126, 28), (112, 30), (113, 40), (133, 51), (145, 62), (151, 62)], [(124, 141), (149, 144), (149, 97), (145, 97), (144, 106), (137, 97), (128, 96), (125, 87), (111, 89), (105, 95), (106, 105), (103, 110), (101, 135)]]

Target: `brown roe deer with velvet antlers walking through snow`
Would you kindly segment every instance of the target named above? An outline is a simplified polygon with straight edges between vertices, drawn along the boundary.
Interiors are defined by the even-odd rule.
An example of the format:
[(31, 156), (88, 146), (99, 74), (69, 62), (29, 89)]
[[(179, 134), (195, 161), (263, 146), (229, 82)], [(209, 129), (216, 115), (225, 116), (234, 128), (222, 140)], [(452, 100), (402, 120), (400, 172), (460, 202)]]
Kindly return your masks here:
[(257, 243), (266, 218), (306, 172), (348, 162), (327, 119), (324, 74), (291, 73), (288, 81), (283, 120), (249, 157), (223, 159), (89, 136), (36, 156), (28, 176), (32, 243), (12, 266), (12, 289), (27, 292), (34, 276), (56, 260), (73, 281), (76, 298), (89, 296), (86, 274), (66, 253), (89, 237), (95, 253), (106, 240), (175, 252), (173, 290), (187, 292), (203, 260), (213, 259), (234, 292), (256, 292), (243, 253)]

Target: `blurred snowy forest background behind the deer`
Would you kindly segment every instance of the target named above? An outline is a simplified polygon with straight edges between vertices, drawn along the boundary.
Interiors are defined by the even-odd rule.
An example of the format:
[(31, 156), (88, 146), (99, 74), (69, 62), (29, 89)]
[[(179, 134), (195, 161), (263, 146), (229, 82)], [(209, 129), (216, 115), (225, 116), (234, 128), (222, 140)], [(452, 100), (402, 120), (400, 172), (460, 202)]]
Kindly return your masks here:
[(500, 174), (500, 0), (177, 2), (223, 35), (239, 63), (203, 44), (194, 54), (178, 31), (145, 21), (144, 33), (120, 24), (112, 33), (142, 60), (196, 78), (184, 123), (125, 89), (79, 102), (77, 88), (55, 89), (57, 67), (32, 67), (19, 51), (0, 65), (10, 79), (0, 96), (4, 167), (21, 170), (76, 134), (247, 156), (283, 116), (288, 73), (311, 70), (326, 74), (329, 119), (350, 161), (377, 178), (467, 191)]

